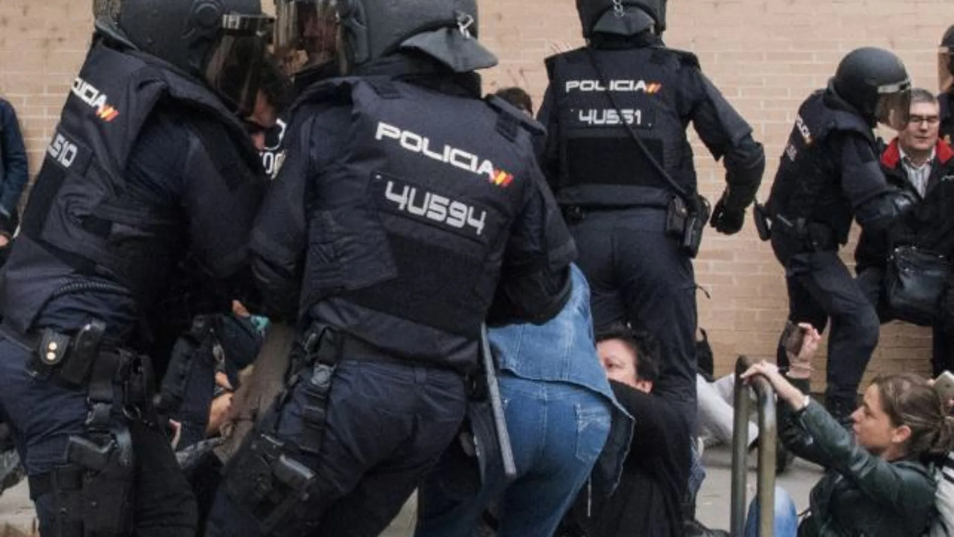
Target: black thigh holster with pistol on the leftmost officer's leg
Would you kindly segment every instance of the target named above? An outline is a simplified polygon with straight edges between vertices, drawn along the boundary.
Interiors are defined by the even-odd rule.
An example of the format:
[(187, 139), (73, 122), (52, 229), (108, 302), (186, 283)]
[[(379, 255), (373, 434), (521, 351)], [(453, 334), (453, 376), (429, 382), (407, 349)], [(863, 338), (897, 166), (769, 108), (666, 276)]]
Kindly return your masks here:
[(132, 532), (133, 457), (126, 428), (105, 438), (70, 437), (69, 463), (54, 468), (45, 480), (31, 478), (34, 497), (52, 494), (56, 537), (120, 537)]

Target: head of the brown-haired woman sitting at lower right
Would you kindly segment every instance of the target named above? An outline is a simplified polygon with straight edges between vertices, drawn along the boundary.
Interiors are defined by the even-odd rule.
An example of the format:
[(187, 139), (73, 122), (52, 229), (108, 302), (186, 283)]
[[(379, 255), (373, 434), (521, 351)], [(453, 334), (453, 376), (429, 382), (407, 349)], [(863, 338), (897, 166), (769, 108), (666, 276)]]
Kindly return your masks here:
[(887, 461), (935, 459), (954, 449), (954, 418), (918, 375), (882, 375), (852, 414), (858, 443)]

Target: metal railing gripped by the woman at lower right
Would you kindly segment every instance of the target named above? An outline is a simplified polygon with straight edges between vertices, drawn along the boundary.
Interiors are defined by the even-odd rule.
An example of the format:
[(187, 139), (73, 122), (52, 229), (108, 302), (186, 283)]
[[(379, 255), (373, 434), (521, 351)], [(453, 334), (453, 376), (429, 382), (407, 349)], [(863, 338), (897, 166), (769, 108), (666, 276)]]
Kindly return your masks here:
[(732, 439), (732, 534), (745, 533), (745, 481), (748, 474), (750, 393), (755, 389), (758, 403), (758, 536), (774, 537), (775, 481), (778, 426), (775, 389), (767, 380), (756, 377), (744, 384), (739, 375), (756, 361), (740, 356), (736, 361), (736, 401)]

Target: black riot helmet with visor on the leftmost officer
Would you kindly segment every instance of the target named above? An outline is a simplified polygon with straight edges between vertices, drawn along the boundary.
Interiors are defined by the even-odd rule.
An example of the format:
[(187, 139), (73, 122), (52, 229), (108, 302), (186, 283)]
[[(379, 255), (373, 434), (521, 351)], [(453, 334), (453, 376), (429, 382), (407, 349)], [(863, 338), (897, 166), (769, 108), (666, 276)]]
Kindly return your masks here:
[(260, 0), (94, 0), (96, 28), (204, 81), (238, 115), (259, 92), (275, 19)]

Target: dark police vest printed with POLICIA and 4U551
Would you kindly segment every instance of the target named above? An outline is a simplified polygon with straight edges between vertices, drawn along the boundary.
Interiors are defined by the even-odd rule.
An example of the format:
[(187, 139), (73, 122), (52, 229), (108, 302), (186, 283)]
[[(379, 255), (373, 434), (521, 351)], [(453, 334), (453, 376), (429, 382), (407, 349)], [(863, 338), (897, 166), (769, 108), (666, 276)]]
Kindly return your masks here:
[[(601, 79), (593, 65), (608, 80)], [(665, 204), (672, 187), (636, 145), (626, 124), (686, 192), (695, 192), (693, 150), (680, 110), (679, 71), (697, 68), (695, 56), (661, 47), (587, 48), (547, 60), (560, 123), (561, 205)], [(608, 96), (612, 98), (618, 109)], [(669, 196), (659, 196), (668, 191)]]

